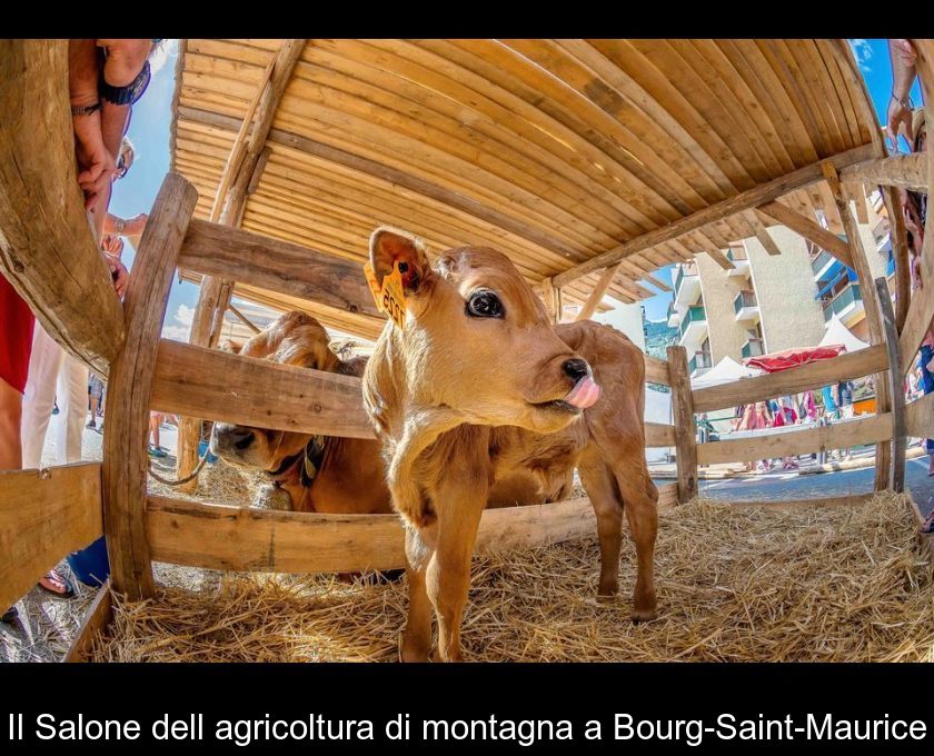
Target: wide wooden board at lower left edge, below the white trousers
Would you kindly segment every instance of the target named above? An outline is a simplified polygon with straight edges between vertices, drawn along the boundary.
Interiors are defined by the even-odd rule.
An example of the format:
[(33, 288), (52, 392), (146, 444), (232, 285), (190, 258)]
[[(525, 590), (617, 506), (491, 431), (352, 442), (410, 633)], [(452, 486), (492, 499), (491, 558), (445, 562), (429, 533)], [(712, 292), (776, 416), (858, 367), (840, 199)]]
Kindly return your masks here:
[(3, 610), (63, 557), (102, 533), (100, 462), (0, 471)]

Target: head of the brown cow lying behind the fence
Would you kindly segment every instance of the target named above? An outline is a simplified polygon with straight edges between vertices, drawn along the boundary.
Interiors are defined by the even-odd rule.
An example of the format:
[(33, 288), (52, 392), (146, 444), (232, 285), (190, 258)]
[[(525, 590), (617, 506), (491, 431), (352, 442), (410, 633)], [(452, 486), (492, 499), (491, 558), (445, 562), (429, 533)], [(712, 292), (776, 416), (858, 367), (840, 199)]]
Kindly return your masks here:
[[(282, 365), (339, 371), (341, 362), (330, 350), (328, 340), (321, 324), (310, 315), (294, 310), (254, 336), (239, 354)], [(310, 438), (308, 434), (215, 422), (211, 452), (235, 466), (275, 472), (290, 457), (301, 454)]]

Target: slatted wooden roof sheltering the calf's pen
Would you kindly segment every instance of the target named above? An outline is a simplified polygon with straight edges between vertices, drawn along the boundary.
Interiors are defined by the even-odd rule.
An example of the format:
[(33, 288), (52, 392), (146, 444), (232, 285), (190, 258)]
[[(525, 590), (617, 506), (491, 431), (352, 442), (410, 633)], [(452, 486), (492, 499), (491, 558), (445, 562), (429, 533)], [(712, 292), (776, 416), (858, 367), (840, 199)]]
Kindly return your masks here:
[[(187, 40), (172, 168), (207, 218), (280, 40)], [(310, 40), (276, 112), (247, 230), (362, 262), (380, 223), (485, 243), (538, 282), (874, 139), (842, 40)], [(781, 200), (838, 226), (819, 185)], [(749, 209), (638, 251), (608, 291), (775, 221)], [(599, 271), (567, 285), (582, 301)], [(267, 301), (266, 304), (269, 304)], [(312, 308), (317, 309), (317, 308)], [(357, 316), (316, 311), (371, 336)], [(339, 320), (339, 325), (337, 322)]]

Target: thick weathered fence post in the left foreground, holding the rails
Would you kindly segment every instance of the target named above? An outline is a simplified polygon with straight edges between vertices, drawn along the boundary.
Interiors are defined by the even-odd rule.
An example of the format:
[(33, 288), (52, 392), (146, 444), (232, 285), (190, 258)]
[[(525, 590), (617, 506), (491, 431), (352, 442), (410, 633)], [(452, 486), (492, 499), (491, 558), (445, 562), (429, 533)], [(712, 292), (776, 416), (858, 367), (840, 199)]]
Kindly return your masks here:
[(146, 537), (150, 395), (176, 261), (197, 201), (195, 187), (179, 173), (162, 181), (127, 289), (127, 341), (110, 366), (103, 431), (105, 533), (111, 583), (131, 600), (152, 593)]

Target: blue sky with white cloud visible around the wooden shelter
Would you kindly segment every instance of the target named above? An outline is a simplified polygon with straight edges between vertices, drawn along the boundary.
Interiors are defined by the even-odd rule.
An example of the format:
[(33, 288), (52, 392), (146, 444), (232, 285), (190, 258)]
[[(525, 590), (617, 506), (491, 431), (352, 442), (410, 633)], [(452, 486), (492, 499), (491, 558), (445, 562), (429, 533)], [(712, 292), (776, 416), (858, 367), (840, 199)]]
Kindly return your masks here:
[[(851, 40), (860, 69), (866, 79), (870, 94), (876, 107), (880, 122), (885, 117), (888, 97), (892, 91), (892, 67), (888, 61), (888, 46), (884, 39)], [(138, 212), (149, 211), (159, 191), (162, 178), (169, 169), (169, 125), (171, 102), (175, 90), (175, 67), (177, 46), (167, 49), (165, 64), (155, 72), (143, 98), (133, 108), (129, 137), (137, 148), (132, 170), (115, 187), (110, 211), (121, 218), (129, 218)], [(915, 102), (921, 102), (917, 84), (913, 92)], [(133, 250), (125, 252), (127, 265), (131, 265)], [(663, 269), (658, 277), (669, 280), (672, 267)], [(654, 290), (654, 287), (648, 286)], [(191, 315), (198, 300), (198, 287), (192, 284), (176, 281), (169, 295), (163, 334), (173, 338), (187, 338)], [(667, 316), (669, 294), (659, 294), (646, 299), (645, 314), (649, 320), (662, 320)]]

